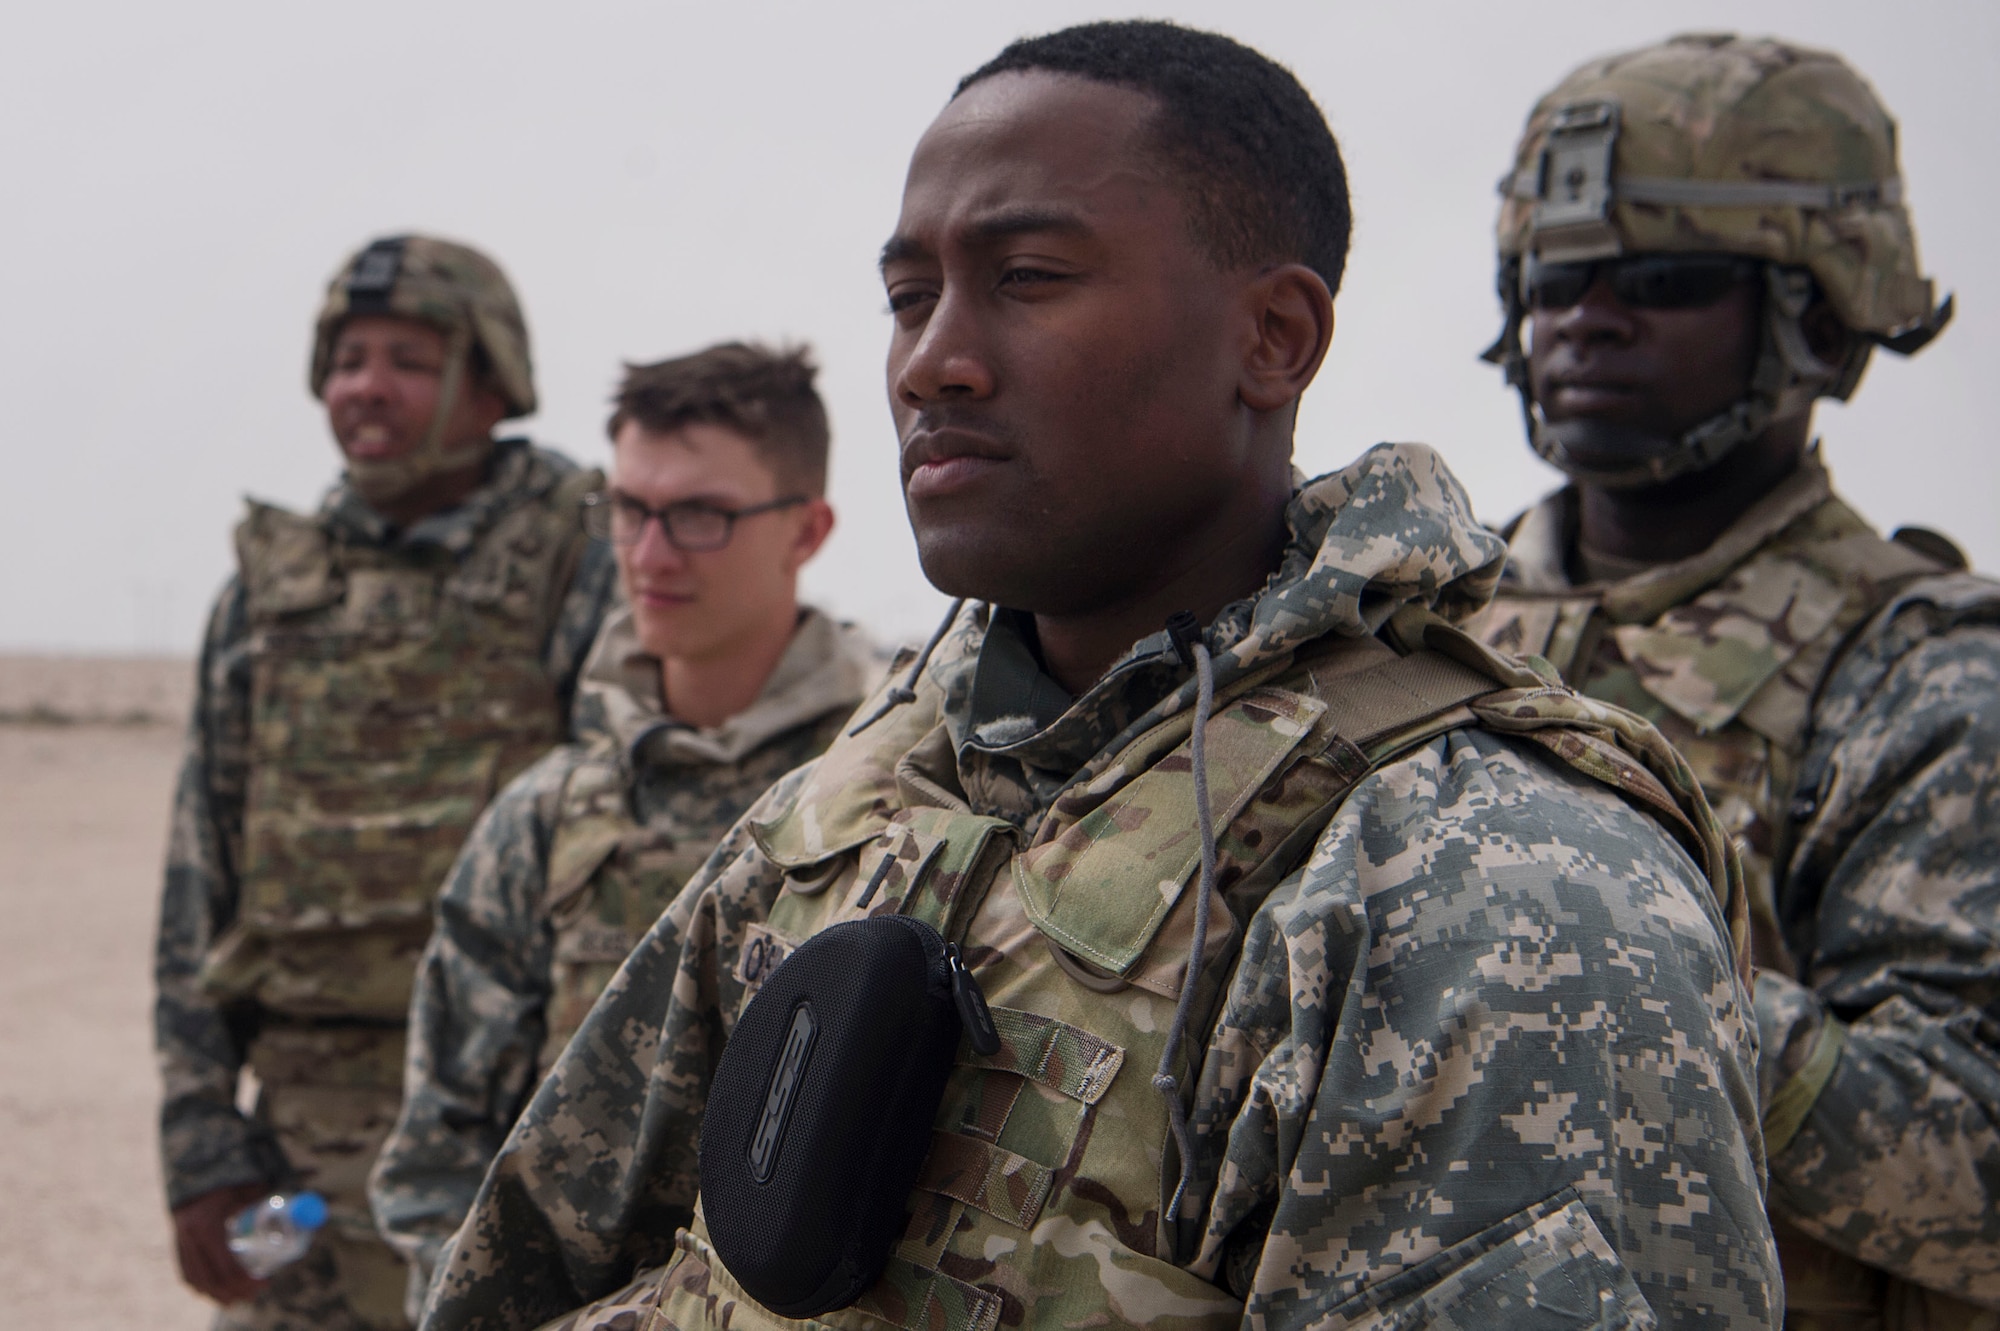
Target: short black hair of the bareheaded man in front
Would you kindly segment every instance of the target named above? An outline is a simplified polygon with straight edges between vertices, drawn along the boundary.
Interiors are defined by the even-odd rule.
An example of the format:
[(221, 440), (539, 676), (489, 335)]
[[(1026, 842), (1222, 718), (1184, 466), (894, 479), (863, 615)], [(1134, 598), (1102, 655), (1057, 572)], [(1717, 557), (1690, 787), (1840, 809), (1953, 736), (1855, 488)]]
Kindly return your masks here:
[(1020, 38), (966, 74), (1046, 70), (1144, 92), (1154, 134), (1190, 190), (1194, 238), (1224, 268), (1298, 262), (1340, 290), (1348, 172), (1312, 94), (1282, 64), (1218, 32), (1154, 20)]

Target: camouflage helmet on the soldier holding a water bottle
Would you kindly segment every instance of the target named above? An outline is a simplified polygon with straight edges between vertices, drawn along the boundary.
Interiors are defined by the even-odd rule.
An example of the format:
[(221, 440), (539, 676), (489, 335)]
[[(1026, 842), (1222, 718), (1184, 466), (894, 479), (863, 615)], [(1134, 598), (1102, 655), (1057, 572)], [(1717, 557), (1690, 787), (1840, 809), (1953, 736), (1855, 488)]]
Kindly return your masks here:
[[(506, 402), (506, 416), (536, 410), (534, 362), (520, 300), (500, 266), (472, 246), (434, 236), (386, 236), (350, 256), (326, 286), (326, 300), (320, 304), (308, 376), (314, 398), (324, 396), (332, 374), (340, 326), (358, 314), (422, 320), (446, 338), (438, 416), (424, 444), (408, 458), (368, 464), (368, 470), (382, 474), (358, 476), (364, 488), (390, 494), (442, 466), (464, 464), (462, 456), (442, 456), (442, 434), (458, 386), (474, 364), (474, 348), (488, 382)], [(354, 472), (350, 466), (350, 476)]]

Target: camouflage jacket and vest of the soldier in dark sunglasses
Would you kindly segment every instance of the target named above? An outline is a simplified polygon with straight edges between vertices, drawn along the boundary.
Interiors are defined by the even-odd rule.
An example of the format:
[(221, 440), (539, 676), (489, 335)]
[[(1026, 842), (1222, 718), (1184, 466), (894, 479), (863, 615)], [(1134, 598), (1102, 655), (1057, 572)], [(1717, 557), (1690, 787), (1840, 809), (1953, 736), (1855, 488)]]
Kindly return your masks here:
[(1574, 504), (1514, 524), (1472, 630), (1652, 719), (1738, 839), (1788, 1323), (1994, 1325), (2000, 588), (1878, 538), (1816, 456), (1610, 586), (1566, 572)]

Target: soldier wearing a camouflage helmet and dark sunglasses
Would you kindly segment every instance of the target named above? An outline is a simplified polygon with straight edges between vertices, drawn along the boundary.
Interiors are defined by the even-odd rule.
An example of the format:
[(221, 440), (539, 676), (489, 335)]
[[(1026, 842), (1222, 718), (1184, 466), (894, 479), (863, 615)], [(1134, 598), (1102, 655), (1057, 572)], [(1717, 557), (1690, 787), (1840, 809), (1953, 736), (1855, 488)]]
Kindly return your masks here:
[(1474, 632), (1660, 725), (1736, 837), (1786, 1323), (1992, 1325), (2000, 586), (1812, 442), (1950, 322), (1896, 126), (1836, 56), (1680, 36), (1542, 98), (1500, 192), (1486, 356), (1570, 484)]

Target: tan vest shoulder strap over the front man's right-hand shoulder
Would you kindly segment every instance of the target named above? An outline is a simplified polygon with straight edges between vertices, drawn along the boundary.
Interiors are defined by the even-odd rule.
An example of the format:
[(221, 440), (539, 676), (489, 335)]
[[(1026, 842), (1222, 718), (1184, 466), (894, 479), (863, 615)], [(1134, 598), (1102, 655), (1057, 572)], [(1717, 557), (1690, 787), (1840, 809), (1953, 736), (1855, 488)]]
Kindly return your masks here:
[[(1370, 771), (1452, 729), (1484, 727), (1538, 743), (1652, 811), (1710, 879), (1748, 975), (1742, 865), (1694, 771), (1658, 729), (1428, 614), (1408, 612), (1384, 636), (1422, 646), (1398, 656), (1380, 640), (1316, 644), (1274, 681), (1218, 699), (1206, 731), (1208, 793), (1228, 861), (1218, 881), (1232, 895), (1268, 891), (1290, 873)], [(1116, 789), (1096, 781), (1058, 799), (1016, 859), (1036, 927), (1116, 975), (1134, 973), (1198, 867), (1192, 721), (1160, 729), (1176, 721), (1174, 743), (1156, 729), (1132, 745), (1144, 751), (1108, 767), (1134, 771)]]

